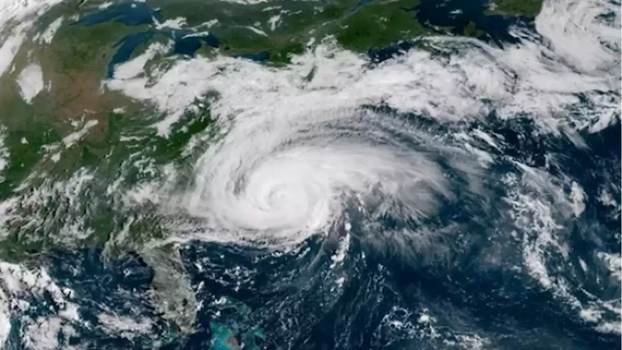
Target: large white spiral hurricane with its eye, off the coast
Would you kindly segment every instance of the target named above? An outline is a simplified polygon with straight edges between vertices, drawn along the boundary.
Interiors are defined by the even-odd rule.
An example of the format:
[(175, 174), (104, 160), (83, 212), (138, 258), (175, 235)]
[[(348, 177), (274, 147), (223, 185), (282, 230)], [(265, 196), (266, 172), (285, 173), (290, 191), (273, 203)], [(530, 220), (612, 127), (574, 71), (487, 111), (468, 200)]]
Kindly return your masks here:
[[(443, 149), (404, 117), (366, 110), (238, 120), (198, 162), (190, 214), (210, 240), (271, 246), (326, 233), (357, 203), (415, 222), (450, 199)], [(434, 153), (432, 153), (434, 149)]]

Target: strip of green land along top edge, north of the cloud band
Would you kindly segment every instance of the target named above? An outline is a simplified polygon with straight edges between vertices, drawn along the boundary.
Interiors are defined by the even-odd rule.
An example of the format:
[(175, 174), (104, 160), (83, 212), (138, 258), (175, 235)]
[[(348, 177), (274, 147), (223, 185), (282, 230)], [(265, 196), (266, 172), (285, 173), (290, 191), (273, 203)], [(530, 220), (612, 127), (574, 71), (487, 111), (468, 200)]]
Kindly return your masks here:
[[(154, 1), (165, 18), (185, 17), (188, 26), (217, 21), (210, 32), (223, 40), (221, 54), (270, 52), (269, 63), (287, 64), (294, 54), (304, 51), (310, 40), (319, 42), (334, 37), (345, 49), (366, 52), (388, 47), (402, 40), (437, 34), (415, 19), (413, 9), (420, 0), (289, 2), (274, 1), (254, 5), (230, 2)], [(488, 14), (535, 17), (542, 0), (498, 0), (491, 2)], [(188, 14), (188, 7), (192, 13)], [(256, 29), (253, 30), (253, 29)], [(470, 22), (463, 35), (480, 36), (483, 32)]]

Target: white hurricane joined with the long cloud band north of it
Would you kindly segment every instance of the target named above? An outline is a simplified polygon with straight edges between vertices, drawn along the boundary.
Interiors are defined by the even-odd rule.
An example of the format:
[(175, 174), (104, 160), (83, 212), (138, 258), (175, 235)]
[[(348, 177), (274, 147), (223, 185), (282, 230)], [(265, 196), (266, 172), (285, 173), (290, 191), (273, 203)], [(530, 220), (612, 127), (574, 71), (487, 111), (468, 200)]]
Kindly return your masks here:
[(360, 55), (320, 45), (286, 69), (198, 57), (177, 62), (154, 85), (136, 75), (106, 86), (166, 111), (155, 125), (162, 135), (195, 97), (219, 95), (210, 111), (226, 134), (194, 164), (188, 193), (180, 201), (172, 195), (171, 207), (192, 217), (190, 227), (171, 225), (175, 239), (193, 232), (190, 238), (208, 241), (290, 246), (326, 232), (357, 202), (369, 219), (433, 215), (455, 196), (452, 169), (467, 191), (481, 191), (485, 161), (474, 158), (491, 159), (488, 151), (454, 149), (443, 136), (361, 106), (384, 104), (446, 125), (494, 110), (501, 120), (530, 118), (543, 133), (561, 131), (577, 144), (577, 130), (613, 123), (622, 35), (618, 17), (600, 16), (611, 11), (619, 11), (615, 2), (547, 1), (536, 32), (513, 27), (520, 42), (503, 48), (425, 39), (452, 51), (449, 60), (412, 50), (370, 68)]

